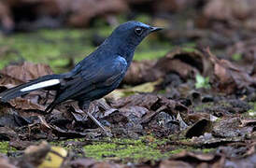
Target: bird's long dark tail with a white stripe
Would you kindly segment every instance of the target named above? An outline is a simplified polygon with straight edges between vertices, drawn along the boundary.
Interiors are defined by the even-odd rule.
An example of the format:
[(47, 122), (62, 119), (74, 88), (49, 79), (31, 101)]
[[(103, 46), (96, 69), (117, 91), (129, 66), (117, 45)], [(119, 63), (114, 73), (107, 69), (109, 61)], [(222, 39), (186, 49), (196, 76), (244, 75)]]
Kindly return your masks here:
[(7, 102), (10, 99), (29, 93), (30, 91), (47, 89), (53, 86), (60, 85), (60, 78), (60, 75), (49, 75), (36, 78), (27, 83), (21, 84), (17, 87), (1, 92), (0, 100), (1, 102)]

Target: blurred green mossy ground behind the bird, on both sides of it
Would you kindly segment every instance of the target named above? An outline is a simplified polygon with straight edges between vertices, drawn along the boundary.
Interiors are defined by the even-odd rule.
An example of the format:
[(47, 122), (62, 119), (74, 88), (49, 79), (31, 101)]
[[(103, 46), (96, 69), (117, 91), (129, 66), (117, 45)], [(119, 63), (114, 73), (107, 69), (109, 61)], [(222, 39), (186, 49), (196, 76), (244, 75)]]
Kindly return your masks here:
[[(149, 22), (148, 19), (144, 16), (139, 18), (146, 22)], [(123, 19), (120, 20), (122, 22)], [(0, 35), (0, 68), (8, 63), (29, 61), (50, 64), (55, 73), (68, 71), (64, 67), (71, 59), (78, 63), (96, 48), (92, 42), (95, 36), (104, 39), (113, 29), (103, 21), (95, 21), (93, 27), (86, 29), (39, 30)], [(135, 60), (156, 59), (164, 56), (171, 48), (170, 43), (158, 40), (156, 35), (149, 35), (136, 49)]]

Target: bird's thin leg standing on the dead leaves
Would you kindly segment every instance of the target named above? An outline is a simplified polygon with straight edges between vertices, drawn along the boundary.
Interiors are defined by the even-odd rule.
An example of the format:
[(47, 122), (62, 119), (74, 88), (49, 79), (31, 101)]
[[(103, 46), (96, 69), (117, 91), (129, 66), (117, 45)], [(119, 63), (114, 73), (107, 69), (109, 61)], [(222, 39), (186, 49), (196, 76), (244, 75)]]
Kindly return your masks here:
[[(83, 103), (78, 103), (78, 105), (79, 105), (79, 108), (81, 108), (88, 115), (88, 117), (90, 119), (92, 119), (93, 122), (104, 131), (104, 133), (107, 134), (107, 136), (112, 136), (112, 134), (107, 131), (107, 129), (100, 123), (100, 121), (95, 119), (92, 116), (92, 114), (89, 112), (90, 102), (86, 101), (86, 102), (83, 102)], [(93, 109), (93, 111), (94, 111), (94, 109)]]

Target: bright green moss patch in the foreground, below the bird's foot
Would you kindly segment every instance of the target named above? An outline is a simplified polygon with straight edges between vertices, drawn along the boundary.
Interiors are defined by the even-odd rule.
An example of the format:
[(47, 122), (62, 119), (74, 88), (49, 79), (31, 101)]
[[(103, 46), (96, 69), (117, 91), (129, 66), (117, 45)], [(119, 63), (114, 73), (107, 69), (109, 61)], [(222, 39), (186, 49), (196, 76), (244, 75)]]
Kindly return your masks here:
[(157, 149), (156, 142), (145, 143), (141, 139), (115, 139), (111, 143), (93, 143), (93, 145), (85, 146), (84, 149), (87, 157), (96, 160), (112, 158), (122, 161), (139, 161), (159, 160), (164, 157)]

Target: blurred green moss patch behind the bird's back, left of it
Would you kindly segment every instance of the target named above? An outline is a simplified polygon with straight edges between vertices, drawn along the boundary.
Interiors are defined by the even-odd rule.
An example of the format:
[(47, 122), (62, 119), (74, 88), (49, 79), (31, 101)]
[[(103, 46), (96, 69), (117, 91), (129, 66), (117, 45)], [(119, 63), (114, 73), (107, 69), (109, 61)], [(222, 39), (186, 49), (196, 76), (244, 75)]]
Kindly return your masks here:
[(1, 55), (0, 68), (9, 62), (26, 60), (48, 63), (58, 72), (57, 67), (64, 66), (70, 58), (79, 57), (80, 60), (94, 49), (88, 36), (87, 31), (66, 29), (0, 38), (0, 46), (5, 45), (7, 48), (7, 52)]

